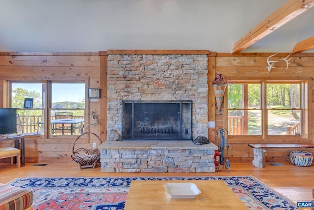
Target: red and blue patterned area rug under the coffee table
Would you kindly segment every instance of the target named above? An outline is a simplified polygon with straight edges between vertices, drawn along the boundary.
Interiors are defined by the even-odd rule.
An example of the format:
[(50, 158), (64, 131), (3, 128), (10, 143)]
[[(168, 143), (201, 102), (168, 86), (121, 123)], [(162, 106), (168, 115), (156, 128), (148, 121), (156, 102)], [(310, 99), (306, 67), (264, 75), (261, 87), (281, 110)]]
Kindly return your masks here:
[(132, 180), (223, 180), (250, 210), (295, 210), (296, 204), (252, 176), (21, 178), (33, 191), (34, 210), (124, 210)]

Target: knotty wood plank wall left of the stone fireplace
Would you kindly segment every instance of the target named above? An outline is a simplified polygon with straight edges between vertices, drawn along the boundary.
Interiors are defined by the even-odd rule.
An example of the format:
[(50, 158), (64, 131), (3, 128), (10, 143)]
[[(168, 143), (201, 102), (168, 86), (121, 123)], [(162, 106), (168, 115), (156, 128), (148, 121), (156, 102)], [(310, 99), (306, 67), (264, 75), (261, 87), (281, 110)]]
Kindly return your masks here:
[[(0, 53), (0, 107), (6, 107), (7, 81), (85, 81), (87, 88), (103, 88), (100, 81), (100, 56), (99, 53)], [(95, 126), (85, 124), (84, 131), (100, 135), (102, 117), (100, 104), (106, 90), (101, 90), (102, 98), (91, 101), (85, 93), (87, 112), (85, 118), (88, 123), (93, 123), (91, 113), (95, 112), (99, 122)], [(60, 93), (62, 94), (62, 93)], [(65, 136), (63, 136), (65, 137)], [(87, 135), (78, 141), (78, 148), (92, 149), (92, 143), (99, 145), (98, 139)], [(26, 137), (26, 162), (72, 162), (71, 154), (77, 136), (45, 139)], [(2, 142), (1, 145), (9, 146), (11, 142)]]

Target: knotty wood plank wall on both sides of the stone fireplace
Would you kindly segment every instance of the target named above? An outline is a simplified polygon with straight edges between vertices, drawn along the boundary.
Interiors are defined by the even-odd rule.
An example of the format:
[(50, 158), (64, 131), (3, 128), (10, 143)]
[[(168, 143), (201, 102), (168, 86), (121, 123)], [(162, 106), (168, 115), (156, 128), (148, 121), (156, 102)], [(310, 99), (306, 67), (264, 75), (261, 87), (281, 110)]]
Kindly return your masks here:
[[(184, 51), (185, 52), (185, 51)], [(184, 53), (183, 52), (183, 53)], [(278, 62), (269, 74), (267, 74), (266, 59), (272, 53), (215, 53), (209, 52), (209, 121), (215, 121), (215, 128), (209, 128), (209, 139), (214, 142), (215, 130), (227, 127), (227, 115), (224, 115), (226, 108), (223, 106), (220, 113), (215, 107), (215, 99), (210, 81), (213, 80), (215, 72), (222, 73), (227, 79), (235, 80), (260, 80), (260, 79), (304, 79), (310, 81), (309, 94), (309, 120), (310, 138), (294, 142), (282, 141), (280, 139), (260, 138), (230, 138), (229, 159), (236, 162), (249, 162), (253, 159), (253, 149), (247, 146), (248, 143), (312, 143), (314, 132), (314, 90), (312, 79), (314, 76), (314, 54), (301, 53), (292, 55), (288, 69), (284, 61)], [(286, 57), (287, 53), (280, 53), (272, 59)], [(104, 141), (106, 139), (106, 75), (107, 75), (107, 52), (99, 53), (7, 53), (0, 52), (0, 107), (6, 105), (6, 82), (34, 81), (34, 80), (88, 80), (87, 88), (100, 88), (101, 98), (99, 101), (88, 103), (88, 117), (91, 121), (91, 111), (95, 111), (99, 118), (96, 126), (85, 126), (85, 131), (98, 134)], [(88, 100), (87, 95), (85, 97)], [(224, 102), (227, 103), (226, 97)], [(77, 137), (67, 139), (26, 139), (26, 162), (72, 162), (73, 143)], [(82, 141), (79, 147), (91, 148), (97, 139)], [(1, 143), (8, 146), (10, 143)], [(313, 151), (313, 150), (312, 150)], [(267, 150), (268, 161), (288, 161), (288, 150)]]

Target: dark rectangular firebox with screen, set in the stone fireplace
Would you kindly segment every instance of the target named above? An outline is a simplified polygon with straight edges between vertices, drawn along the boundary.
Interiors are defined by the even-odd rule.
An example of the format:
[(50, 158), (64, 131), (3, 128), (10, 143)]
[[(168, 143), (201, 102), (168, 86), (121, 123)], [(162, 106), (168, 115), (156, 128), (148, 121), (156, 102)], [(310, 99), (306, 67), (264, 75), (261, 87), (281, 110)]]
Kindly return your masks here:
[(192, 140), (192, 101), (122, 101), (122, 140)]

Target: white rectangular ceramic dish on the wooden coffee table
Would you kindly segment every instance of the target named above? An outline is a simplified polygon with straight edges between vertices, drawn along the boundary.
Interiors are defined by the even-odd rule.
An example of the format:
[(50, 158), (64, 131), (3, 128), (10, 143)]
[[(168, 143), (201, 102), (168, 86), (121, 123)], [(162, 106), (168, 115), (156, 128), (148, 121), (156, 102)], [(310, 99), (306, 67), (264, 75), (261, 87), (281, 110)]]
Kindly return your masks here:
[(165, 183), (163, 184), (166, 194), (171, 199), (196, 198), (201, 190), (194, 183)]

